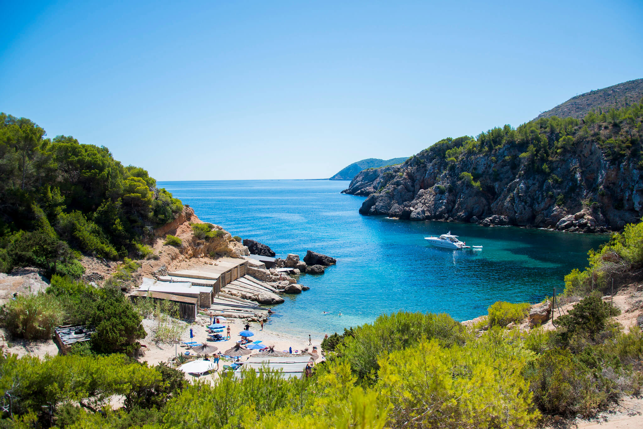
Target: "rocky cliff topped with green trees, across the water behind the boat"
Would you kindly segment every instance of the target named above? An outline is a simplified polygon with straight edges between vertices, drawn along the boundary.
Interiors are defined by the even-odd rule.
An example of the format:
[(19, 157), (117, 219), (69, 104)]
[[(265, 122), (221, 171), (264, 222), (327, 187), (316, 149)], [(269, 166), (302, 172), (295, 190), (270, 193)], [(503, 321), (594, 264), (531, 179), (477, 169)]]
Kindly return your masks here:
[(620, 230), (643, 214), (642, 107), (444, 139), (401, 165), (360, 172), (342, 192), (367, 196), (361, 214)]

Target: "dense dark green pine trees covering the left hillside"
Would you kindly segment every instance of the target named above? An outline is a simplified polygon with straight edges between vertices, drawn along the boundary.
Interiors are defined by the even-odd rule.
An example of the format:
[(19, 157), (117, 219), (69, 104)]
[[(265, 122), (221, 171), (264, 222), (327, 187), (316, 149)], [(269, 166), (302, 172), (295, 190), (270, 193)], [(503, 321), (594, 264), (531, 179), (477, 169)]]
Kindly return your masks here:
[(183, 210), (148, 172), (71, 136), (0, 114), (0, 271), (79, 277), (79, 252), (122, 259)]

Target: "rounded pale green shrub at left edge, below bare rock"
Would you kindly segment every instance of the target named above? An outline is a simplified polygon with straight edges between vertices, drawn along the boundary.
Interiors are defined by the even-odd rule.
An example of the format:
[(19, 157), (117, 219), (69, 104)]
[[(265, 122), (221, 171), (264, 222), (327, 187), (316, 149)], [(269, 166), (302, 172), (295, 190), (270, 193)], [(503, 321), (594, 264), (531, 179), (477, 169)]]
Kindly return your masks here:
[(18, 295), (2, 307), (0, 320), (13, 336), (26, 340), (48, 340), (53, 329), (62, 324), (63, 310), (59, 300), (39, 293)]

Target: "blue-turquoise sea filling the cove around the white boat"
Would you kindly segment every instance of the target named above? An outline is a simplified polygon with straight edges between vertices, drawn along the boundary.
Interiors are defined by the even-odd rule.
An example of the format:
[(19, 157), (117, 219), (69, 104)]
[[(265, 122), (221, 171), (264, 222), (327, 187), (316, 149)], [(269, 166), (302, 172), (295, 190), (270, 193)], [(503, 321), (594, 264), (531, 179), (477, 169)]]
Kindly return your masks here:
[[(332, 333), (399, 309), (486, 314), (498, 300), (537, 302), (563, 286), (572, 268), (606, 235), (362, 216), (363, 197), (340, 194), (348, 181), (159, 182), (199, 219), (269, 245), (278, 256), (306, 250), (338, 259), (323, 275), (302, 275), (311, 290), (289, 295), (271, 323), (293, 334)], [(448, 231), (478, 250), (431, 247)], [(322, 316), (322, 311), (332, 311)], [(339, 313), (341, 312), (341, 316)]]

